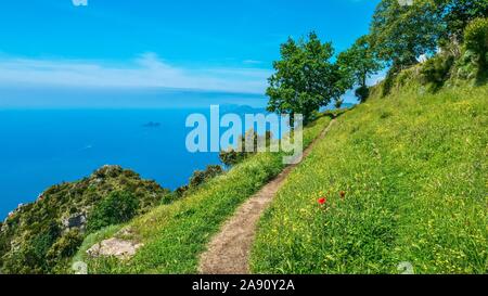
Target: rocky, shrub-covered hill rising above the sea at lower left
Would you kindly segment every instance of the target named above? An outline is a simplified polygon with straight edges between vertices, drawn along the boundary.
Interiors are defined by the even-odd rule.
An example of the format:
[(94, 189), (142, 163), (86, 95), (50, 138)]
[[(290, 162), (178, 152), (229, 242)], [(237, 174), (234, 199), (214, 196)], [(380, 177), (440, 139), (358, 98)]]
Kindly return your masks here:
[(69, 271), (87, 234), (147, 213), (168, 193), (119, 166), (53, 185), (0, 223), (0, 273)]

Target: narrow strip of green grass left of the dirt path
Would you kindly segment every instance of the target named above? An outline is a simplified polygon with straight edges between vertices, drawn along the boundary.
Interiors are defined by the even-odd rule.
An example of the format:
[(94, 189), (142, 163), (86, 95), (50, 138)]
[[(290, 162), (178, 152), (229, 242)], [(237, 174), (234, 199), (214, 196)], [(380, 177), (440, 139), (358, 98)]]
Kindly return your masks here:
[[(308, 145), (329, 124), (321, 117), (307, 127), (304, 143)], [(283, 169), (282, 154), (265, 153), (249, 157), (223, 176), (209, 181), (194, 194), (171, 205), (160, 206), (128, 227), (129, 239), (144, 243), (130, 260), (89, 260), (91, 273), (194, 273), (198, 255), (210, 236), (234, 213), (236, 207)], [(76, 260), (95, 242), (112, 236), (117, 228), (87, 239)]]

